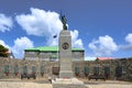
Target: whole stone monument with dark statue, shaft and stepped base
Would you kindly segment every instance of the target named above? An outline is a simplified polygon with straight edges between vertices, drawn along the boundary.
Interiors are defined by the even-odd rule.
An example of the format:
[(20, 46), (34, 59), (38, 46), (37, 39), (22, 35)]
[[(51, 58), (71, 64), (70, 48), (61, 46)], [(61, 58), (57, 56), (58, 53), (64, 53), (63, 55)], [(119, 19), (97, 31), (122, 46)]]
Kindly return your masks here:
[(66, 26), (65, 15), (61, 16), (63, 30), (59, 33), (59, 78), (52, 80), (53, 88), (86, 88), (84, 82), (74, 78), (72, 57), (72, 35)]

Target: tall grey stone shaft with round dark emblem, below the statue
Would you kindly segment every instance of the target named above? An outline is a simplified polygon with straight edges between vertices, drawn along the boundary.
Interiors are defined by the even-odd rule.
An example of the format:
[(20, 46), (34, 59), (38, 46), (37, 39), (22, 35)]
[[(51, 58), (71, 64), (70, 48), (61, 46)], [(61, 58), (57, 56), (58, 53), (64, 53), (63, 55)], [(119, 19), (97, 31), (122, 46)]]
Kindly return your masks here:
[(72, 36), (68, 30), (59, 34), (59, 78), (73, 78)]

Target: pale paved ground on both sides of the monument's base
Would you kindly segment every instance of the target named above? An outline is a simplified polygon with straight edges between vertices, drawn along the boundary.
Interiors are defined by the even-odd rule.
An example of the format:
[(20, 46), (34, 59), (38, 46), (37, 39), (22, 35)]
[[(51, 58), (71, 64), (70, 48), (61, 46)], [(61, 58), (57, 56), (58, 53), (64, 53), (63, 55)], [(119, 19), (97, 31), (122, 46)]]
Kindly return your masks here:
[[(132, 88), (132, 82), (116, 80), (84, 80), (88, 88)], [(47, 80), (43, 79), (0, 79), (0, 88), (53, 88)]]

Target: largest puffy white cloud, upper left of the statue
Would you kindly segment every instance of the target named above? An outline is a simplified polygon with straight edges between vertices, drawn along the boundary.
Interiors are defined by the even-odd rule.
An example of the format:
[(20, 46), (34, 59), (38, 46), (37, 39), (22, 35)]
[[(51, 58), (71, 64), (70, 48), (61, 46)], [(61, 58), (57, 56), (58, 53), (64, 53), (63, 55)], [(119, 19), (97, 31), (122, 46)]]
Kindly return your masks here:
[(50, 36), (63, 29), (58, 13), (34, 8), (30, 10), (31, 14), (21, 14), (15, 18), (28, 34)]

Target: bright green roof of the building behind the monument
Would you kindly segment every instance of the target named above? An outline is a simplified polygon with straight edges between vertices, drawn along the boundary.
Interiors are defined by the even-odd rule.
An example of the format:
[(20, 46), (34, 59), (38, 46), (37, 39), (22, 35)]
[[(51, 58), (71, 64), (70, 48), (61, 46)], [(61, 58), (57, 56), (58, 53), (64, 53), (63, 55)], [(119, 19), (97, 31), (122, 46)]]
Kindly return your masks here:
[[(25, 52), (57, 52), (57, 46), (40, 46), (24, 50)], [(72, 48), (73, 52), (81, 52), (84, 48)]]

